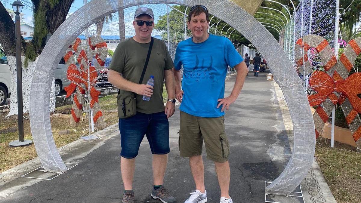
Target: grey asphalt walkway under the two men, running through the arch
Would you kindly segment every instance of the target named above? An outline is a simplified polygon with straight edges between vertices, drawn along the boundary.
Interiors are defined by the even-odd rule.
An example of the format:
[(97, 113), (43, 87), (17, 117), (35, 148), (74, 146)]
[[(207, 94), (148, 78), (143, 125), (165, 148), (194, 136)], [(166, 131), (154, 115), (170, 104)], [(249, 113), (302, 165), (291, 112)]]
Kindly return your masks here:
[[(225, 116), (231, 145), (230, 195), (235, 203), (264, 202), (265, 181), (277, 178), (291, 155), (273, 82), (266, 81), (266, 73), (260, 73), (259, 77), (253, 77), (252, 73), (249, 75), (239, 98)], [(235, 75), (227, 78), (226, 95), (230, 94), (234, 81)], [(179, 157), (179, 105), (169, 122), (171, 152), (165, 185), (177, 202), (183, 203), (195, 185), (188, 160)], [(3, 184), (4, 191), (28, 186), (1, 198), (0, 202), (121, 202), (123, 186), (117, 126), (108, 128), (99, 140), (78, 141), (77, 144), (68, 146), (70, 149), (62, 157), (65, 162), (79, 165), (51, 181), (17, 178)], [(217, 203), (220, 190), (214, 164), (206, 159), (205, 151), (203, 156), (208, 202)], [(149, 197), (151, 161), (148, 142), (144, 138), (136, 158), (134, 190), (138, 202), (158, 202)]]

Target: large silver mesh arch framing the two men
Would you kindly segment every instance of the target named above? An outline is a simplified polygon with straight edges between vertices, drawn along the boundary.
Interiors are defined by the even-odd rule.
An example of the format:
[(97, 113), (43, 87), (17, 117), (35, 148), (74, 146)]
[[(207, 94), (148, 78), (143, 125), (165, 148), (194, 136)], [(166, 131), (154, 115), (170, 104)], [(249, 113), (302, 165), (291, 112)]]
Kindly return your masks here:
[[(31, 84), (31, 133), (45, 170), (55, 172), (66, 170), (52, 137), (48, 111), (54, 70), (66, 48), (83, 30), (99, 18), (114, 13), (118, 9), (158, 3), (205, 5), (213, 15), (242, 33), (265, 57), (289, 105), (295, 136), (290, 161), (280, 176), (265, 189), (265, 192), (290, 194), (306, 176), (314, 156), (316, 139), (309, 103), (291, 61), (277, 40), (255, 18), (227, 0), (93, 0), (66, 19), (44, 47), (36, 64)], [(265, 43), (268, 46), (264, 46)]]

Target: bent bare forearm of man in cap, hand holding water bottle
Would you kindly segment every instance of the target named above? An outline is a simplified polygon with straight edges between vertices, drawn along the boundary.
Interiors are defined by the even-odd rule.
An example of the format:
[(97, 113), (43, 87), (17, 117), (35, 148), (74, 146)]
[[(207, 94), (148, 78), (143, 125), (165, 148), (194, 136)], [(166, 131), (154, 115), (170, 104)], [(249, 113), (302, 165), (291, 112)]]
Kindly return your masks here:
[(123, 78), (123, 76), (115, 70), (109, 69), (108, 81), (121, 90), (135, 92), (138, 95), (153, 95), (153, 87), (151, 85), (140, 85), (138, 83), (131, 82)]

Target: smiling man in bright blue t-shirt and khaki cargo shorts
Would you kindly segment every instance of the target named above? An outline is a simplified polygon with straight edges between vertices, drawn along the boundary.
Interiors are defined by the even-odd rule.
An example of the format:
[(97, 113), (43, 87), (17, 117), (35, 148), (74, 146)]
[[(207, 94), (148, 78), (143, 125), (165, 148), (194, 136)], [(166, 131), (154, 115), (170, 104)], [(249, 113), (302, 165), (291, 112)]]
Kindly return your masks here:
[[(175, 96), (181, 102), (179, 150), (189, 157), (196, 184), (185, 203), (207, 201), (202, 160), (203, 140), (207, 158), (216, 166), (221, 203), (232, 203), (229, 196), (229, 141), (225, 133), (224, 110), (238, 97), (247, 66), (229, 39), (207, 33), (209, 14), (206, 7), (197, 5), (188, 15), (188, 29), (193, 37), (178, 44), (174, 60)], [(181, 90), (181, 72), (183, 82)], [(227, 67), (237, 70), (232, 93), (224, 97)]]

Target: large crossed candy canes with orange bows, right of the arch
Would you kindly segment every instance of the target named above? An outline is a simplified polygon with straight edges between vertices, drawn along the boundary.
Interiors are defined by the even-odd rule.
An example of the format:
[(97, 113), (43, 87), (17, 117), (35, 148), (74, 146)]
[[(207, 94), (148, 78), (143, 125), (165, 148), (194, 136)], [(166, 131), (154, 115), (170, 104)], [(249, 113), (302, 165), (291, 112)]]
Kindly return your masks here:
[[(357, 96), (361, 94), (361, 73), (354, 73), (348, 77), (352, 64), (361, 54), (361, 38), (353, 39), (348, 43), (340, 56), (340, 61), (336, 60), (328, 42), (325, 39), (321, 40), (320, 36), (307, 35), (297, 40), (297, 44), (304, 49), (304, 53), (307, 53), (311, 47), (316, 48), (327, 73), (315, 71), (310, 77), (310, 86), (317, 91), (317, 94), (308, 96), (310, 105), (317, 106), (316, 113), (313, 115), (316, 137), (323, 129), (336, 103), (339, 103), (357, 143), (357, 150), (361, 151), (361, 119), (358, 115), (361, 113), (361, 99)], [(304, 57), (305, 59), (297, 58), (297, 60), (307, 61), (307, 55)], [(297, 62), (297, 66), (300, 65), (303, 64)], [(336, 92), (339, 93), (335, 94)]]

